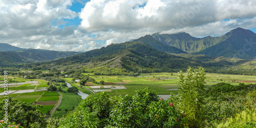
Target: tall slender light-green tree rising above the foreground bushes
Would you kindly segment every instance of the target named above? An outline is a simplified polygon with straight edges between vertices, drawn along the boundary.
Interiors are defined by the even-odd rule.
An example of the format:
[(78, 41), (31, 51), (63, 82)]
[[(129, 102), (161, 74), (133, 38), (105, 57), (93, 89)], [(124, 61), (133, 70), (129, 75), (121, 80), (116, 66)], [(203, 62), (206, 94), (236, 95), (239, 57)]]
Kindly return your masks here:
[(205, 72), (202, 67), (188, 67), (186, 74), (179, 72), (180, 77), (180, 109), (189, 127), (204, 127), (204, 80)]

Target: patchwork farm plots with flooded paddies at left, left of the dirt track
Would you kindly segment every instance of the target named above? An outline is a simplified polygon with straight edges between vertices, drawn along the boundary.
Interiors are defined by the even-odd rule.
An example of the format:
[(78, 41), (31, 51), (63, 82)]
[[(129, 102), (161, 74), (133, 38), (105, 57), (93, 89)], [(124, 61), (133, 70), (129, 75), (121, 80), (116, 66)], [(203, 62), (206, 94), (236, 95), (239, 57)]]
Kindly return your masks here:
[[(0, 79), (3, 79), (3, 77), (0, 77)], [(40, 79), (15, 78), (15, 80), (16, 79), (19, 80), (17, 84), (11, 82), (11, 86), (8, 86), (9, 97), (29, 104), (41, 104), (42, 108), (37, 109), (43, 113), (51, 111), (58, 102), (58, 92), (35, 91), (36, 88), (47, 88), (48, 85), (46, 81)], [(0, 94), (3, 94), (5, 89), (1, 87), (3, 86), (0, 86)], [(0, 95), (0, 101), (4, 100), (5, 98), (6, 97), (4, 97), (4, 94)]]

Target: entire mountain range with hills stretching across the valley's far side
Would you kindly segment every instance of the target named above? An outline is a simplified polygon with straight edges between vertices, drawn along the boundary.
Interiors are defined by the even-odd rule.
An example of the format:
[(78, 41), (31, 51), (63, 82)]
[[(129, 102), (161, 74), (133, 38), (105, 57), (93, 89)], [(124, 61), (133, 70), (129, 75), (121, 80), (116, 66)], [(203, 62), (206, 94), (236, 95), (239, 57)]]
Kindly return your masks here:
[[(24, 67), (36, 70), (80, 67), (87, 72), (104, 72), (104, 74), (166, 72), (184, 69), (187, 66), (235, 66), (255, 58), (256, 52), (253, 47), (255, 37), (255, 33), (242, 28), (231, 30), (223, 36), (204, 38), (192, 37), (187, 33), (155, 33), (152, 36), (145, 35), (132, 41), (111, 44), (81, 54), (38, 49), (24, 50), (8, 46), (13, 51), (0, 52), (3, 58), (0, 65), (44, 61), (28, 63)], [(241, 52), (242, 50), (244, 52)], [(242, 57), (236, 56), (241, 55), (238, 54), (239, 52), (243, 53)]]

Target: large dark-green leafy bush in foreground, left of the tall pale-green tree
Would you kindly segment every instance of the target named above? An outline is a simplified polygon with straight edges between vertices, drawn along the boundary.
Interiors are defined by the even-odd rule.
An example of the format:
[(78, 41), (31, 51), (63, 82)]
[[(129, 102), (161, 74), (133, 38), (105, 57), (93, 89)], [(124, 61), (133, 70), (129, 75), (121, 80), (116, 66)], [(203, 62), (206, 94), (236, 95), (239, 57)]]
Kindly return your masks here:
[(159, 100), (148, 88), (136, 95), (109, 97), (106, 92), (82, 100), (59, 127), (182, 127), (182, 114), (172, 99)]

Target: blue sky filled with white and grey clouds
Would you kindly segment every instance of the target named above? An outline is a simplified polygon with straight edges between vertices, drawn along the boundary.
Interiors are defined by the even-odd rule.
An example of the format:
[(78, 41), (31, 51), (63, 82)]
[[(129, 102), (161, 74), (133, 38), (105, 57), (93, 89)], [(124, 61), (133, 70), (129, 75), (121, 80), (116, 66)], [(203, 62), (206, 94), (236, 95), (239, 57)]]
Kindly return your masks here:
[(0, 0), (0, 43), (86, 52), (146, 34), (256, 33), (255, 0)]

